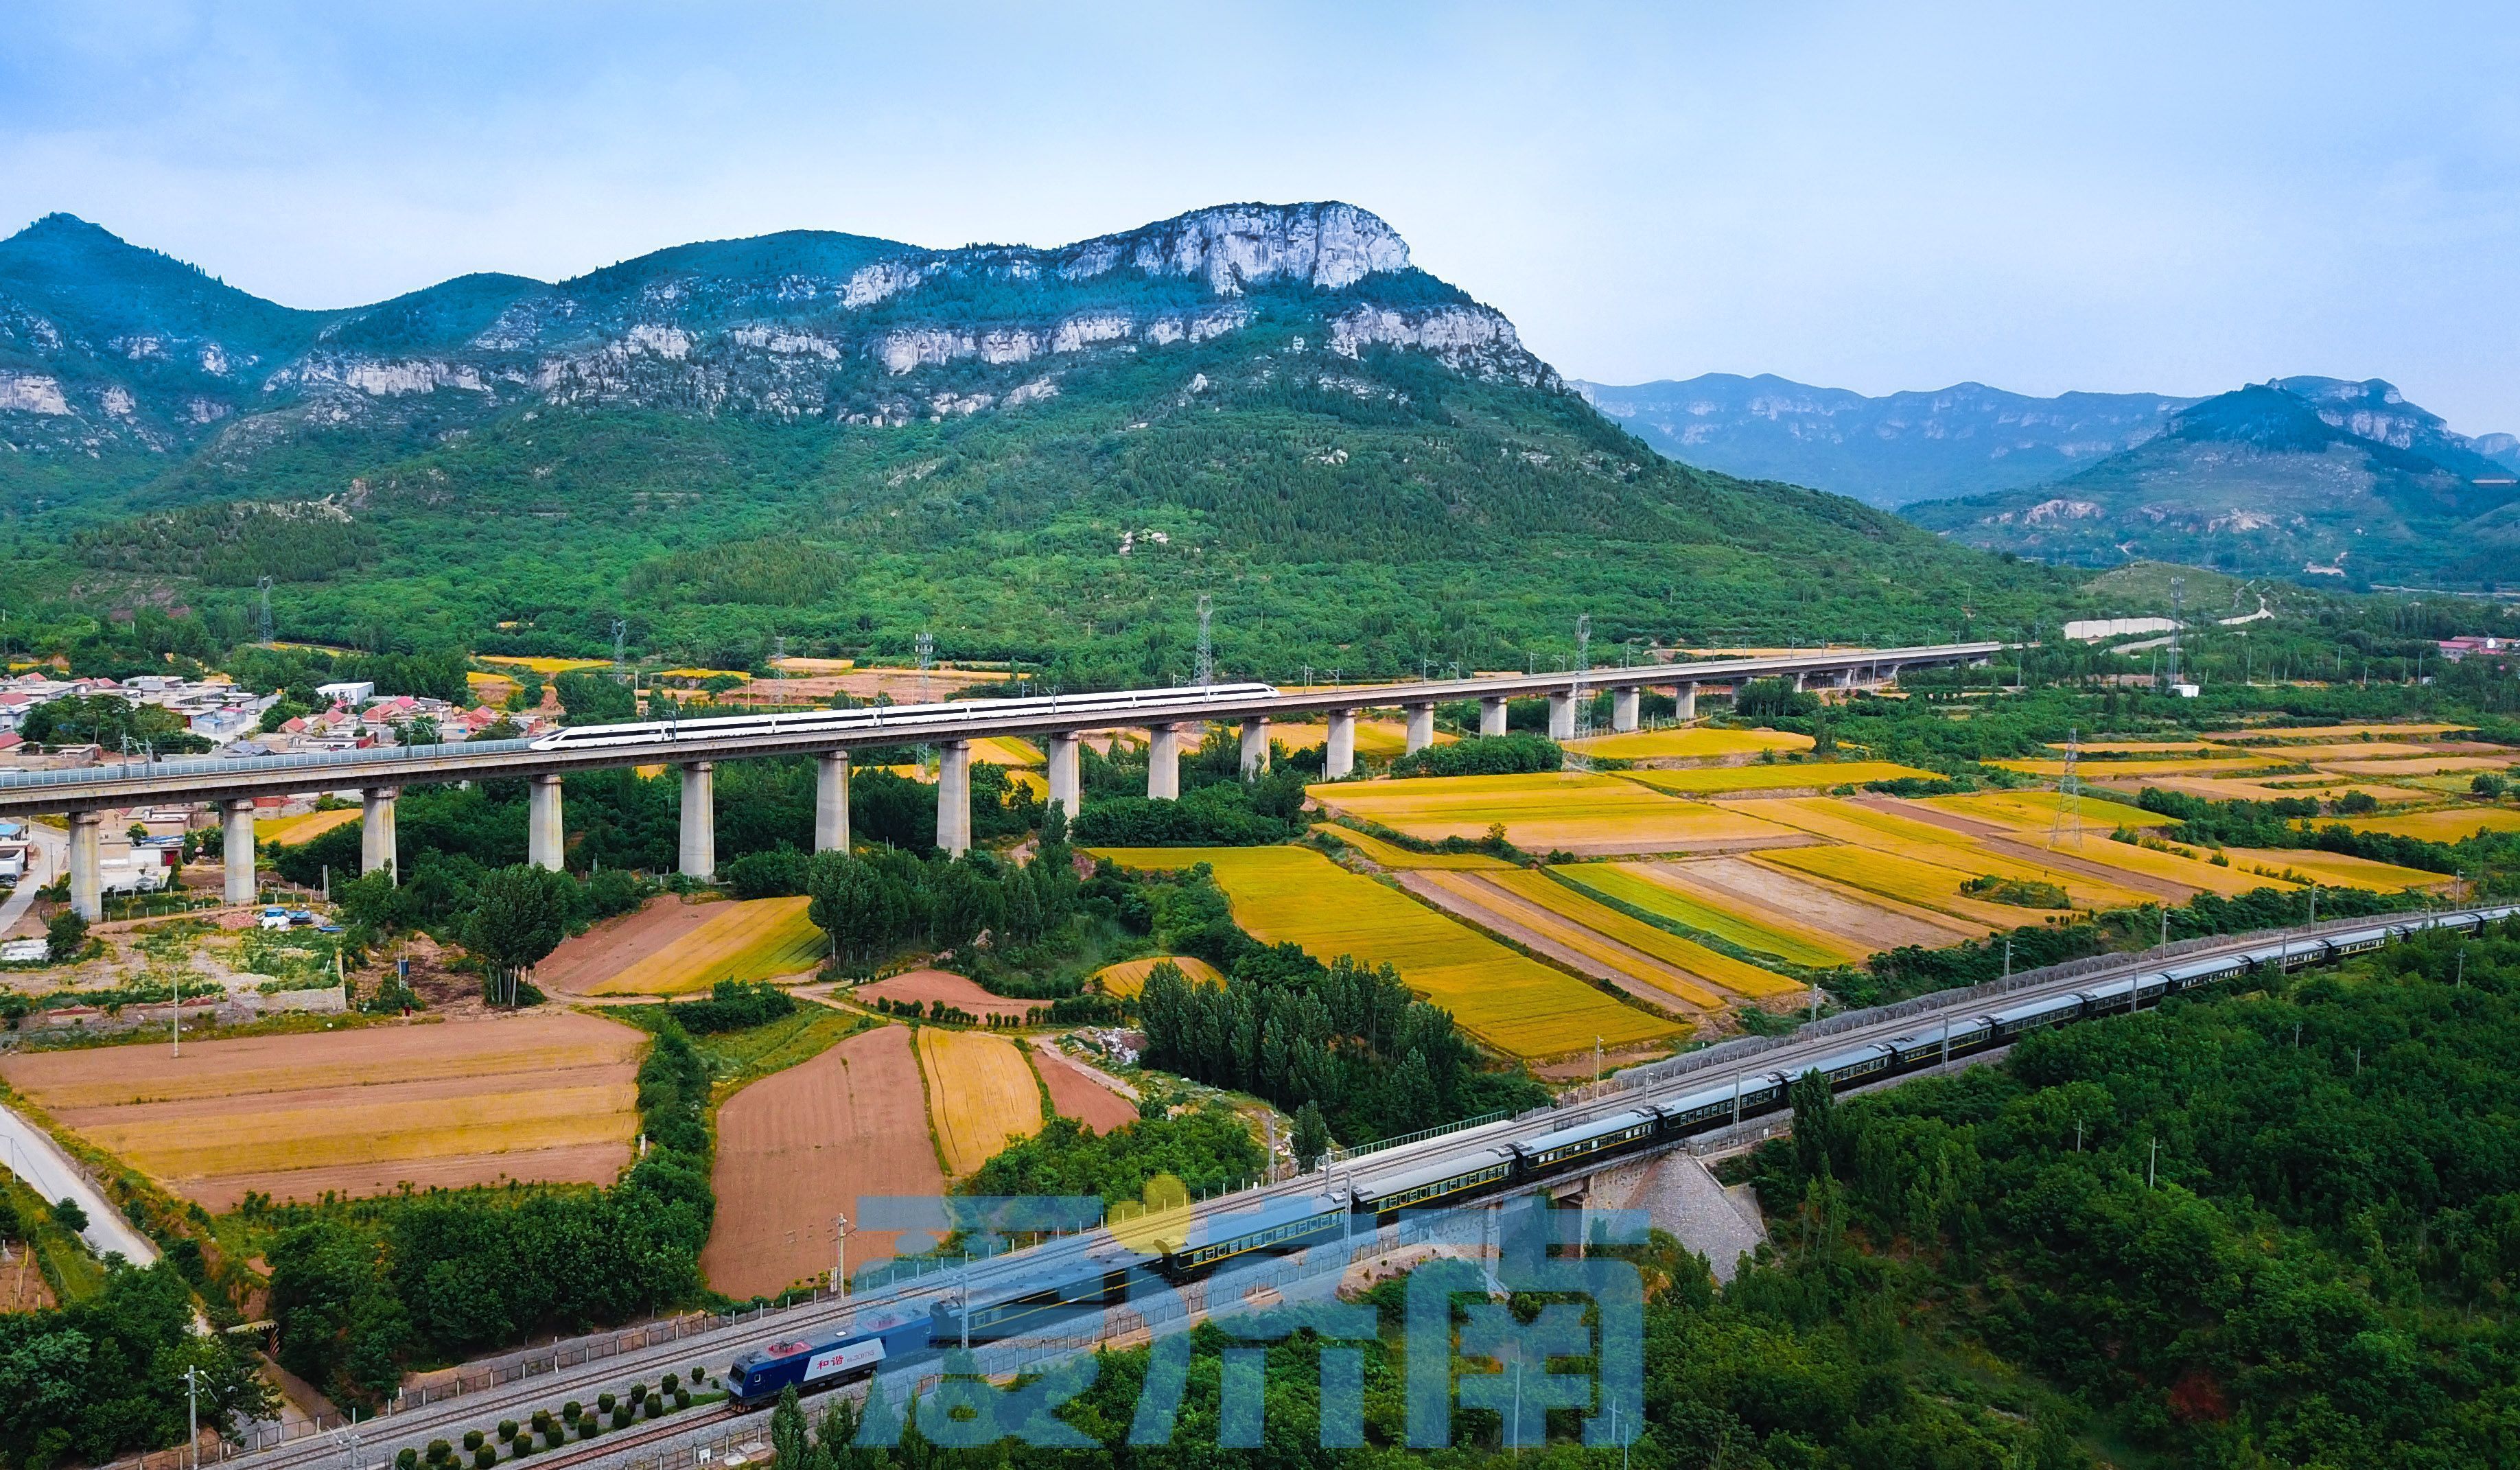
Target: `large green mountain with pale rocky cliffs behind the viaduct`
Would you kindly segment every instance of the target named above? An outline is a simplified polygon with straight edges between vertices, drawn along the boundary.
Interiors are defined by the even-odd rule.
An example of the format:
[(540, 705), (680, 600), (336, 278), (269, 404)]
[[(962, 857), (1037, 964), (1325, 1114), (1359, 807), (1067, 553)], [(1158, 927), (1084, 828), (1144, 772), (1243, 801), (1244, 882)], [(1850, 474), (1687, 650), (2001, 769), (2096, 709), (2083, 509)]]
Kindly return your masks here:
[[(0, 608), (496, 653), (1053, 678), (1948, 635), (2069, 580), (1656, 456), (1351, 204), (1063, 247), (721, 240), (305, 313), (0, 242)], [(2003, 613), (2003, 608), (2016, 608)], [(50, 610), (50, 613), (48, 613)], [(23, 625), (23, 623), (20, 623)]]

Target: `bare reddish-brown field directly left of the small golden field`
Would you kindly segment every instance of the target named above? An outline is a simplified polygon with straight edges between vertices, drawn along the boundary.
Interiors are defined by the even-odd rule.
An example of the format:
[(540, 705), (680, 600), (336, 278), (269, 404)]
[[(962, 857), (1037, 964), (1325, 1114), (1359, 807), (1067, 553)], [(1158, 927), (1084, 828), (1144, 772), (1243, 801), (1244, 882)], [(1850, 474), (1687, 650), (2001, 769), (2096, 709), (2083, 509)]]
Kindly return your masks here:
[[(910, 1026), (859, 1031), (718, 1107), (718, 1220), (701, 1273), (728, 1296), (832, 1268), (832, 1215), (862, 1198), (942, 1195)], [(852, 1230), (849, 1268), (890, 1261), (892, 1230)]]

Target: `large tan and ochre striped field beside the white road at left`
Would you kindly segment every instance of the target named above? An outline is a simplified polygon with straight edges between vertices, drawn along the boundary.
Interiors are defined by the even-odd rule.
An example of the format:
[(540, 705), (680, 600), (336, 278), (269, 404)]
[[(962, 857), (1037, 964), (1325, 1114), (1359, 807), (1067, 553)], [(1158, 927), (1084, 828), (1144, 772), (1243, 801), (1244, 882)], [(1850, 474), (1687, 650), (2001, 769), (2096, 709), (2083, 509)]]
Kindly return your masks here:
[(247, 1190), (312, 1200), (401, 1183), (602, 1185), (638, 1135), (640, 1031), (575, 1011), (345, 1034), (38, 1051), (0, 1077), (207, 1210)]

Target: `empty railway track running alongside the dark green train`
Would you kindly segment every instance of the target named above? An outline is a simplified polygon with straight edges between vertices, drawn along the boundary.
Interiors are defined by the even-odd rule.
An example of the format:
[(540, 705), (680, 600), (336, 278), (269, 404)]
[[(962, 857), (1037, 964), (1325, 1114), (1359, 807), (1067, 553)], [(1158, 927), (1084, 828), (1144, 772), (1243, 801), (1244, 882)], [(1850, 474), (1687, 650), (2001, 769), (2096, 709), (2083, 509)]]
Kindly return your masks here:
[[(2230, 958), (2265, 951), (2268, 946), (2303, 946), (2303, 956), (2318, 951), (2316, 940), (2326, 933), (2344, 933), (2354, 928), (2369, 928), (2374, 923), (2449, 923), (2467, 918), (2492, 920), (2520, 913), (2520, 905), (2480, 905), (2449, 910), (2444, 915), (2407, 915), (2399, 920), (2334, 920), (2308, 930), (2263, 930), (2250, 935), (2230, 935), (2213, 943), (2187, 943), (2172, 946), (2172, 951), (2147, 951), (2139, 956), (2124, 956), (2114, 963), (2082, 963), (2082, 966), (2056, 966), (2056, 973), (2026, 973), (2011, 981), (2001, 991), (2001, 1004), (2019, 1006), (2024, 1001), (2039, 1001), (2049, 996), (2064, 996), (2074, 991), (2087, 991), (2099, 983), (2160, 973), (2167, 963), (2195, 963), (2208, 958)], [(1930, 998), (1925, 998), (1930, 1001)], [(1570, 1102), (1562, 1107), (1535, 1109), (1522, 1117), (1497, 1120), (1479, 1127), (1467, 1127), (1459, 1132), (1446, 1132), (1426, 1140), (1416, 1140), (1401, 1147), (1381, 1150), (1373, 1155), (1361, 1155), (1343, 1160), (1328, 1172), (1300, 1175), (1295, 1180), (1280, 1180), (1273, 1185), (1260, 1185), (1252, 1190), (1240, 1190), (1235, 1195), (1222, 1195), (1197, 1205), (1202, 1220), (1217, 1215), (1230, 1215), (1237, 1210), (1255, 1210), (1260, 1205), (1295, 1198), (1318, 1195), (1323, 1190), (1338, 1190), (1353, 1185), (1363, 1175), (1383, 1175), (1409, 1165), (1424, 1165), (1444, 1160), (1452, 1155), (1469, 1155), (1477, 1150), (1494, 1150), (1515, 1137), (1535, 1137), (1540, 1132), (1565, 1130), (1572, 1125), (1603, 1120), (1618, 1112), (1635, 1109), (1656, 1099), (1673, 1099), (1686, 1092), (1698, 1092), (1711, 1082), (1724, 1082), (1729, 1077), (1759, 1077), (1767, 1072), (1792, 1074), (1797, 1064), (1817, 1062), (1822, 1056), (1847, 1051), (1850, 1046), (1862, 1046), (1872, 1041), (1890, 1041), (1898, 1036), (1910, 1036), (1918, 1031), (1930, 1031), (1933, 1026), (1961, 1021), (1983, 1014), (1996, 998), (1988, 986), (1953, 993), (1943, 1004), (1903, 1004), (1885, 1006), (1880, 1014), (1852, 1014), (1835, 1019), (1837, 1024), (1824, 1024), (1824, 1034), (1784, 1039), (1777, 1046), (1764, 1046), (1749, 1054), (1726, 1054), (1724, 1049), (1711, 1049), (1701, 1062), (1681, 1056), (1671, 1064), (1653, 1069), (1651, 1082), (1638, 1087), (1605, 1087), (1593, 1097)], [(1978, 1062), (1983, 1056), (1968, 1056), (1966, 1062)], [(1109, 1230), (1086, 1230), (1079, 1236), (1061, 1236), (1043, 1246), (1026, 1251), (1008, 1251), (1000, 1256), (975, 1258), (968, 1266), (935, 1271), (890, 1288), (864, 1291), (852, 1299), (834, 1299), (827, 1304), (796, 1306), (776, 1319), (733, 1321), (723, 1329), (690, 1334), (668, 1344), (633, 1349), (620, 1357), (597, 1359), (580, 1367), (557, 1369), (549, 1374), (524, 1377), (491, 1389), (459, 1394), (451, 1399), (421, 1404), (413, 1409), (401, 1409), (388, 1417), (360, 1425), (360, 1452), (348, 1470), (368, 1470), (393, 1460), (401, 1447), (423, 1447), (433, 1437), (454, 1437), (464, 1430), (496, 1425), (501, 1417), (527, 1417), (537, 1407), (557, 1409), (564, 1399), (592, 1399), (607, 1389), (622, 1389), (630, 1382), (653, 1382), (668, 1369), (680, 1369), (690, 1364), (706, 1364), (713, 1372), (733, 1359), (736, 1351), (756, 1346), (771, 1334), (779, 1336), (804, 1336), (816, 1331), (829, 1331), (839, 1326), (857, 1311), (869, 1309), (912, 1309), (925, 1311), (935, 1301), (955, 1299), (960, 1293), (985, 1296), (990, 1286), (1011, 1281), (1016, 1276), (1038, 1278), (1046, 1271), (1063, 1266), (1081, 1266), (1089, 1256), (1109, 1253), (1116, 1241)], [(688, 1422), (675, 1425), (675, 1432), (688, 1427)], [(370, 1452), (370, 1447), (375, 1447)], [(615, 1450), (620, 1442), (602, 1445), (602, 1450)], [(570, 1450), (575, 1452), (575, 1447)], [(247, 1450), (229, 1455), (227, 1462), (249, 1465), (252, 1470), (300, 1470), (300, 1467), (343, 1467), (345, 1447), (333, 1435), (310, 1435), (302, 1440), (290, 1440), (285, 1445), (272, 1445), (267, 1450)], [(577, 1460), (542, 1460), (552, 1470), (572, 1465)]]

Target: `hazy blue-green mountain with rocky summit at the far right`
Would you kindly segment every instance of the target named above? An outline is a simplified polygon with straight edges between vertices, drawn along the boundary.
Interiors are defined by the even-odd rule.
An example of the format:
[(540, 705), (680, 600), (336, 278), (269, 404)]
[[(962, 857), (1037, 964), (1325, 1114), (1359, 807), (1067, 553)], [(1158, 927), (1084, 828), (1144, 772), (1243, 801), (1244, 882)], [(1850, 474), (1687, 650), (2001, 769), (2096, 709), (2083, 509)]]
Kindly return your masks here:
[(2520, 580), (2507, 434), (2470, 439), (2394, 386), (2273, 378), (2049, 484), (1910, 504), (1918, 524), (2054, 562), (2175, 560), (2354, 585)]

